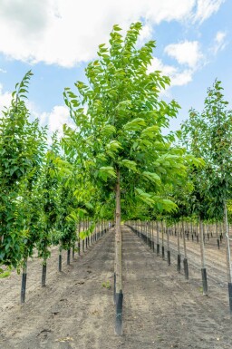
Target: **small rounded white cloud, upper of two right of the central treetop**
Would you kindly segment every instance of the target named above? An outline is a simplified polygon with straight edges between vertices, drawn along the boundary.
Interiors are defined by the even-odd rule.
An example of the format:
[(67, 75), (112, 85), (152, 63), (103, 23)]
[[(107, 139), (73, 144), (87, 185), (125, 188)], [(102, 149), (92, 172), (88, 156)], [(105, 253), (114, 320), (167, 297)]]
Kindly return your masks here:
[(188, 64), (194, 69), (203, 58), (198, 41), (185, 41), (179, 44), (169, 44), (165, 47), (165, 53), (175, 58), (179, 64)]

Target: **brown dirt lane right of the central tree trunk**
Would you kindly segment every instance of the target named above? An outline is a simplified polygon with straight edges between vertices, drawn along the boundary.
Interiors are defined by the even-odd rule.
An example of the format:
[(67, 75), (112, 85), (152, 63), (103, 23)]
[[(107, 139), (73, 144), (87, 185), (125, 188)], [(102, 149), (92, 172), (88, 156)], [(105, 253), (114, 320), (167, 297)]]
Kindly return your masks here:
[(154, 256), (130, 228), (123, 234), (123, 271), (125, 348), (231, 348), (227, 306), (201, 296), (194, 280)]

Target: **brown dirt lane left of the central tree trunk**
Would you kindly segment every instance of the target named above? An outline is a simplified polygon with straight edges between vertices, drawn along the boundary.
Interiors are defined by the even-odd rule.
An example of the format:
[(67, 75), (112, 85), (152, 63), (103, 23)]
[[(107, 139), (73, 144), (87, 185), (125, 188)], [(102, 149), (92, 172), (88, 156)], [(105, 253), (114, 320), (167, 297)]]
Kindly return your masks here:
[[(102, 348), (102, 329), (107, 324), (109, 309), (110, 313), (112, 311), (112, 291), (102, 287), (102, 283), (111, 282), (113, 256), (113, 233), (90, 247), (72, 266), (63, 267), (61, 274), (57, 271), (57, 256), (54, 256), (54, 266), (50, 261), (48, 268), (47, 286), (37, 285), (32, 292), (29, 282), (31, 292), (27, 292), (24, 306), (18, 305), (19, 277), (13, 275), (8, 280), (8, 284), (17, 282), (14, 291), (6, 287), (7, 283), (4, 286), (2, 280), (1, 291), (9, 291), (12, 302), (8, 300), (5, 308), (4, 300), (8, 297), (0, 300), (1, 308), (5, 308), (0, 319), (0, 348)], [(29, 263), (28, 279), (30, 274), (41, 275), (36, 259)]]

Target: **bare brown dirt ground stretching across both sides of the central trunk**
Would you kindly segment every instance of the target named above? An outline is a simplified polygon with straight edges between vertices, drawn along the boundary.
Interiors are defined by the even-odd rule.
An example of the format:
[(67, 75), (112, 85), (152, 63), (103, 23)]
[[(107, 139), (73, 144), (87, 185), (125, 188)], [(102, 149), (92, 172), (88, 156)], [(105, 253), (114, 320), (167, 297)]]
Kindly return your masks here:
[(201, 296), (197, 268), (186, 281), (129, 228), (123, 228), (124, 334), (115, 336), (112, 287), (102, 286), (112, 286), (113, 247), (111, 231), (61, 274), (54, 253), (43, 289), (41, 266), (34, 259), (22, 307), (20, 277), (13, 273), (1, 280), (0, 349), (232, 347), (227, 290), (220, 281), (214, 282), (210, 296)]

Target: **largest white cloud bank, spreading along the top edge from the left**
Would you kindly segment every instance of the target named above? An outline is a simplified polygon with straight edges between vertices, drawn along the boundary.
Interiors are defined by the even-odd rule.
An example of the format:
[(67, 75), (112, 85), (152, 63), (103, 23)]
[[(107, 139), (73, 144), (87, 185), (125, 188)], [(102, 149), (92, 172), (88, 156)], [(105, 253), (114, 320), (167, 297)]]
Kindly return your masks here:
[(143, 20), (142, 35), (148, 38), (153, 24), (183, 22), (194, 15), (194, 20), (202, 22), (222, 2), (205, 0), (207, 5), (202, 5), (200, 0), (1, 0), (0, 52), (29, 63), (72, 67), (95, 56), (97, 45), (108, 41), (113, 24), (126, 29), (131, 22)]

